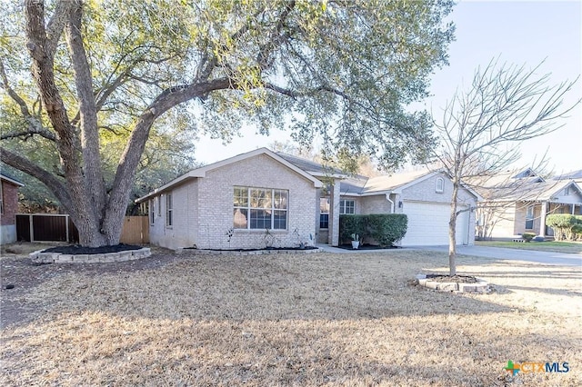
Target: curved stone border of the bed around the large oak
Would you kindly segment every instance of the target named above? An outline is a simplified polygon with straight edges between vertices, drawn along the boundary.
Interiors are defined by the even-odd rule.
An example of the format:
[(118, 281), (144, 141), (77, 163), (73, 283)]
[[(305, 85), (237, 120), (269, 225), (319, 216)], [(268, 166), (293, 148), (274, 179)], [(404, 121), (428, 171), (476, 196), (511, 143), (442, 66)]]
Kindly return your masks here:
[(125, 250), (118, 253), (101, 254), (65, 254), (43, 253), (43, 250), (28, 254), (33, 263), (111, 263), (133, 261), (146, 258), (152, 254), (149, 247), (139, 250)]

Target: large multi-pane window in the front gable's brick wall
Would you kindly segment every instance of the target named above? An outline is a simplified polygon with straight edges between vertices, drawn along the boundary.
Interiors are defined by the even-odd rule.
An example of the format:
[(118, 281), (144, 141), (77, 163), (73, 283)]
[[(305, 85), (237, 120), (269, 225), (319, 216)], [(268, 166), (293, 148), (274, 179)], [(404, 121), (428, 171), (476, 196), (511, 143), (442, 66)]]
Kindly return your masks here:
[(234, 227), (286, 230), (288, 197), (286, 190), (235, 187)]

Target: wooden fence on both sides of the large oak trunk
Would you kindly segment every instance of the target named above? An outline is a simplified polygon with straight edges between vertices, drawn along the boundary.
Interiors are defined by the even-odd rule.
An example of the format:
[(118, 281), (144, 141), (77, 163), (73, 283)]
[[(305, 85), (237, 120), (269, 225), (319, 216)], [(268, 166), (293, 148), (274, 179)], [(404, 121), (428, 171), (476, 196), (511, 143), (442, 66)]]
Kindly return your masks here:
[[(69, 215), (55, 213), (17, 213), (16, 238), (26, 242), (78, 243), (79, 232)], [(147, 216), (125, 216), (120, 243), (149, 243)]]

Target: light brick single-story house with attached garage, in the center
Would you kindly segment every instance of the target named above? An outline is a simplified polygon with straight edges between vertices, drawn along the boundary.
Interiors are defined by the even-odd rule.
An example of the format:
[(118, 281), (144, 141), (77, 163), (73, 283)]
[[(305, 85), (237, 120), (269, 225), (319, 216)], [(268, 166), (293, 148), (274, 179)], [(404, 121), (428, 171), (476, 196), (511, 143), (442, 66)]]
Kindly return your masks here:
[[(261, 148), (183, 174), (137, 203), (148, 203), (150, 242), (168, 248), (292, 246), (311, 237), (337, 245), (340, 213), (406, 213), (402, 245), (430, 245), (448, 243), (452, 187), (440, 172), (350, 177)], [(474, 243), (477, 199), (461, 188), (459, 244)]]

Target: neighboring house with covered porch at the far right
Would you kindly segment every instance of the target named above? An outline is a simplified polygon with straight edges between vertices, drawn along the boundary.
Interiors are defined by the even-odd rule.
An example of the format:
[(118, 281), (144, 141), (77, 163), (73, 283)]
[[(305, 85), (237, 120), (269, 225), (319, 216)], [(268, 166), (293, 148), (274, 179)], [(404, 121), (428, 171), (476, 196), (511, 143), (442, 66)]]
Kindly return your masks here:
[(546, 180), (527, 168), (519, 174), (498, 174), (477, 185), (484, 198), (477, 210), (477, 229), (483, 238), (512, 238), (522, 233), (553, 236), (546, 225), (548, 214), (582, 214), (582, 189), (574, 180)]

